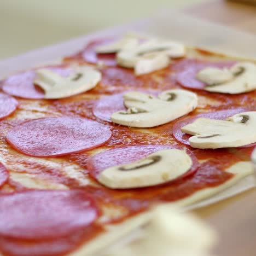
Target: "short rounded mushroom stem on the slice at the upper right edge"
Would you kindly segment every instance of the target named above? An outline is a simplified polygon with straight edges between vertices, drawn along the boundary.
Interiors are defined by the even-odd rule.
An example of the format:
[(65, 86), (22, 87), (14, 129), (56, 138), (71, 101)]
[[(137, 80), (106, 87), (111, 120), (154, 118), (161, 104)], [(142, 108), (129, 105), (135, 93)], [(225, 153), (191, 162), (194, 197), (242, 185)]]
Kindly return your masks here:
[(233, 74), (226, 68), (207, 67), (197, 73), (196, 78), (207, 85), (213, 86), (229, 82), (233, 79)]

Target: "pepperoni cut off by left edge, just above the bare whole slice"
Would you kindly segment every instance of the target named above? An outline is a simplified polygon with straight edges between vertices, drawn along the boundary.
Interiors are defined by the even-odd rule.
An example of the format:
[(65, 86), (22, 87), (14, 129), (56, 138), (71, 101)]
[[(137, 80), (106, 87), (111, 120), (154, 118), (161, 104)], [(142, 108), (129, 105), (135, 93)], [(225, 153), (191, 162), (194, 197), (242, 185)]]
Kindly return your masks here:
[(0, 92), (0, 120), (13, 113), (18, 104), (15, 98)]

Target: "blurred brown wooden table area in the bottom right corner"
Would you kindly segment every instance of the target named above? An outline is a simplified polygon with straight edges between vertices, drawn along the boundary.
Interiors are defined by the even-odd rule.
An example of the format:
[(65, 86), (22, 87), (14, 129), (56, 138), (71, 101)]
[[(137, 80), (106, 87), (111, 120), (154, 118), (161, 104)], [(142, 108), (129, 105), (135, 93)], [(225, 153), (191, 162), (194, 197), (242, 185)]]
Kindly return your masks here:
[(216, 256), (256, 255), (256, 189), (194, 211), (218, 232)]

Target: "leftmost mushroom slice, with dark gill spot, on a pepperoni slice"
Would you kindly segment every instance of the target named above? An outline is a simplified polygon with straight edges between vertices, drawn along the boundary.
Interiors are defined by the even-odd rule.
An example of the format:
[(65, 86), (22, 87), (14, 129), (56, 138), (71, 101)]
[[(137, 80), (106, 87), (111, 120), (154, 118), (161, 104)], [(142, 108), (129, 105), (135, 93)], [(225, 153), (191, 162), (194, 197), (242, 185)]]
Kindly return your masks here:
[(91, 90), (101, 80), (101, 73), (90, 67), (80, 67), (68, 77), (62, 77), (49, 69), (36, 71), (34, 84), (45, 91), (44, 98), (65, 98)]

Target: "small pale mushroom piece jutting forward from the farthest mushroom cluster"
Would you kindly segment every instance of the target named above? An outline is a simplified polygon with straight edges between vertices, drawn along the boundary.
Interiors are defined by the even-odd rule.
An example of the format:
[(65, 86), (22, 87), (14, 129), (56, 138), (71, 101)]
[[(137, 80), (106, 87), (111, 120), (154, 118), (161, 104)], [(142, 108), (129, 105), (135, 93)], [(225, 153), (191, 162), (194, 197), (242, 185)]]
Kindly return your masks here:
[(170, 58), (166, 54), (148, 53), (138, 59), (135, 65), (135, 74), (148, 74), (167, 67), (169, 63)]

